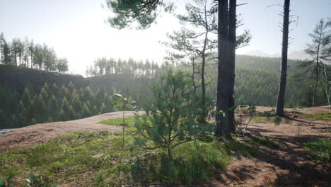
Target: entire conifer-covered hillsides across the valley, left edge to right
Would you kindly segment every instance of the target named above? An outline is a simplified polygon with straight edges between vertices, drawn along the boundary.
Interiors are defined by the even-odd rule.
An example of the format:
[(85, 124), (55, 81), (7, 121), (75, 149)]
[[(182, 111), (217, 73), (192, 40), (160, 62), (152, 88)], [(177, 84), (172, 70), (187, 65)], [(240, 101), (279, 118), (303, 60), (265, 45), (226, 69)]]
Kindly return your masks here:
[[(0, 129), (74, 120), (115, 111), (116, 108), (112, 106), (114, 93), (130, 96), (137, 101), (137, 108), (140, 109), (144, 107), (146, 100), (152, 97), (149, 89), (151, 81), (157, 80), (167, 67), (172, 66), (156, 63), (151, 65), (148, 61), (127, 63), (120, 60), (103, 60), (105, 64), (95, 63), (93, 69), (89, 69), (90, 74), (92, 72), (96, 76), (87, 78), (1, 65)], [(305, 70), (298, 68), (300, 63), (301, 61), (289, 60), (286, 108), (311, 106), (312, 103), (313, 79), (309, 75), (296, 76)], [(279, 58), (238, 55), (236, 96), (243, 102), (256, 106), (275, 106), (279, 64)], [(108, 69), (100, 69), (107, 65)], [(192, 71), (183, 65), (175, 65), (175, 68)], [(213, 98), (216, 98), (216, 76), (217, 64), (209, 62), (207, 95)], [(199, 75), (196, 84), (199, 85)], [(317, 106), (327, 105), (323, 89), (323, 86), (319, 85)], [(197, 91), (199, 93), (199, 90)]]

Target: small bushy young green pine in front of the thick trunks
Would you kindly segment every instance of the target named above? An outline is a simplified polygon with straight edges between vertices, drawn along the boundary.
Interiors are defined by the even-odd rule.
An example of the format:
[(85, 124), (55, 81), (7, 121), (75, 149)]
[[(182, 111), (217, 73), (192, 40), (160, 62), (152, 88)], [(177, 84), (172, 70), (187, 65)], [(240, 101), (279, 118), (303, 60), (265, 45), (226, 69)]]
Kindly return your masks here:
[[(183, 74), (168, 69), (158, 84), (152, 84), (154, 100), (147, 104), (146, 115), (137, 116), (135, 125), (142, 136), (137, 138), (137, 144), (147, 149), (167, 149), (170, 162), (173, 148), (192, 141), (202, 128), (194, 120), (197, 96), (192, 90), (192, 79)], [(152, 144), (148, 145), (148, 141)]]

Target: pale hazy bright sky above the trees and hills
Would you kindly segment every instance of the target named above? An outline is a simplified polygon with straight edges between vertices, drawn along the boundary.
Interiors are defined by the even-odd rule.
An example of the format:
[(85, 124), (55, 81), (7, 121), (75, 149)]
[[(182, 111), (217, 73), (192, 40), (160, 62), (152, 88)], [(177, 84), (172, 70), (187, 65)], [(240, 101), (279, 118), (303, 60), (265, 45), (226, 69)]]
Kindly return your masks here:
[[(177, 11), (188, 0), (177, 0)], [(238, 50), (245, 54), (262, 50), (273, 54), (281, 50), (282, 22), (280, 6), (283, 0), (238, 0), (238, 13), (244, 26), (252, 34), (248, 47)], [(105, 19), (111, 15), (101, 7), (103, 0), (0, 0), (0, 32), (7, 40), (27, 36), (35, 42), (45, 42), (54, 47), (59, 57), (67, 57), (70, 72), (84, 74), (86, 66), (98, 57), (133, 57), (136, 60), (161, 62), (165, 47), (159, 41), (165, 34), (178, 30), (180, 24), (168, 14), (158, 18), (148, 30), (110, 28)], [(294, 38), (289, 51), (303, 50), (310, 42), (308, 33), (320, 18), (331, 17), (331, 0), (292, 0), (291, 14), (299, 17), (298, 25), (292, 25), (290, 36)]]

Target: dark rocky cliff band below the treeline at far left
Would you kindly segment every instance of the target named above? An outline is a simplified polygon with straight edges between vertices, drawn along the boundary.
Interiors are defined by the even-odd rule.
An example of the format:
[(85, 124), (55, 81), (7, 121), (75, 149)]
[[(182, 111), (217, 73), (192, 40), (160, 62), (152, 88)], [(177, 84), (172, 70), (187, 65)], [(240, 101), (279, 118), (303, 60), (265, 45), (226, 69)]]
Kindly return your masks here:
[(40, 91), (47, 83), (57, 86), (67, 85), (72, 82), (76, 89), (88, 86), (89, 81), (78, 74), (59, 74), (54, 72), (43, 72), (35, 69), (0, 69), (0, 84), (22, 93), (27, 87), (33, 91)]

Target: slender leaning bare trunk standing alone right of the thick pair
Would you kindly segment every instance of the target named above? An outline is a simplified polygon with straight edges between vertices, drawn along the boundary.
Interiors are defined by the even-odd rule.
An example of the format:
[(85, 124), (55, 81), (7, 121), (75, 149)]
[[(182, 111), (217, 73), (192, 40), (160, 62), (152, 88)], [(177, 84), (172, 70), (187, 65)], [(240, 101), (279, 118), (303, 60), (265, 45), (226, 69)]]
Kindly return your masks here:
[(281, 73), (277, 98), (277, 115), (284, 115), (284, 101), (287, 73), (287, 50), (289, 47), (289, 6), (290, 0), (284, 0), (283, 42), (281, 46)]

